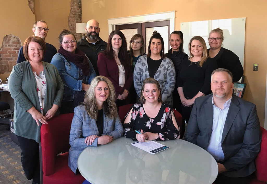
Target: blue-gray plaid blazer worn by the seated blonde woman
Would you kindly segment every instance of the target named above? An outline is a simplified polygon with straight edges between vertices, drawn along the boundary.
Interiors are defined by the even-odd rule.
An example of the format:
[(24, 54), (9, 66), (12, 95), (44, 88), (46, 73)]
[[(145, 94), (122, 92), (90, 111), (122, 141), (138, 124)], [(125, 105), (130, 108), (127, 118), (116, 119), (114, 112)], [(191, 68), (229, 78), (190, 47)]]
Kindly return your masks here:
[[(119, 115), (117, 114), (116, 118), (110, 119), (104, 115), (104, 129), (103, 135), (109, 135), (113, 137), (113, 140), (119, 138), (123, 134), (123, 127)], [(89, 114), (84, 110), (84, 106), (80, 105), (74, 109), (74, 117), (72, 119), (69, 135), (69, 159), (68, 165), (70, 169), (76, 174), (78, 168), (78, 157), (81, 152), (88, 147), (85, 144), (85, 138), (90, 135), (98, 135), (98, 128), (96, 125), (95, 119), (91, 119)], [(98, 138), (95, 138), (92, 145), (97, 146)]]

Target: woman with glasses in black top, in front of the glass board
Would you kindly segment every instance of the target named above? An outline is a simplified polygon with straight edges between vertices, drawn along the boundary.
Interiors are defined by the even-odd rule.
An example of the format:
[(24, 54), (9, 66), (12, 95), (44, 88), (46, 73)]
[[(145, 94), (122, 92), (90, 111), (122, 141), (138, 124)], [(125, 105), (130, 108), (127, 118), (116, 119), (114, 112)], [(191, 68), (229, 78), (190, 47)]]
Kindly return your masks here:
[(223, 31), (216, 28), (210, 31), (208, 49), (209, 57), (214, 58), (218, 64), (218, 68), (228, 69), (233, 74), (233, 82), (239, 81), (244, 70), (241, 62), (235, 53), (222, 47)]

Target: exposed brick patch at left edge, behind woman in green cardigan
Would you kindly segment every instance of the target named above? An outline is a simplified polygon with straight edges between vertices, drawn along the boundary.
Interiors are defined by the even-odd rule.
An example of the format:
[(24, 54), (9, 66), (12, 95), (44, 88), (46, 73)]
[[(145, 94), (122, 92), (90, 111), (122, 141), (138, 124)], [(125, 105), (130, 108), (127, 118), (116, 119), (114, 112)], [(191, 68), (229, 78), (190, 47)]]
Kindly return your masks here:
[(11, 72), (16, 64), (21, 40), (13, 34), (6, 35), (0, 48), (0, 74)]

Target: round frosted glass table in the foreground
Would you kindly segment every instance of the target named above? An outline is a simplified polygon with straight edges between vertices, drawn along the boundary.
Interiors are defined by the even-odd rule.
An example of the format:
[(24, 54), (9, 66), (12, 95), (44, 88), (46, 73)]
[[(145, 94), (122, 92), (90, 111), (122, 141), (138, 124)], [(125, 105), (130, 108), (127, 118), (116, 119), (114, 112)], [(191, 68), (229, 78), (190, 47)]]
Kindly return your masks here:
[(107, 145), (87, 147), (78, 169), (92, 184), (213, 183), (218, 174), (215, 159), (201, 147), (176, 139), (159, 141), (169, 149), (156, 154), (143, 151), (121, 137)]

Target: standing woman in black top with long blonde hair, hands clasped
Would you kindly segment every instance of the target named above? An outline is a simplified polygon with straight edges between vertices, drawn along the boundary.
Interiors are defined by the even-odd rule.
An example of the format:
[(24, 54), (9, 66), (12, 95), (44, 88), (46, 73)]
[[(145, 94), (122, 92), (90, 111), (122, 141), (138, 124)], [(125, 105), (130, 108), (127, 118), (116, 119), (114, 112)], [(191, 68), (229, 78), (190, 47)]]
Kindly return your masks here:
[(217, 63), (208, 56), (206, 43), (202, 37), (191, 38), (189, 50), (189, 61), (182, 63), (177, 78), (183, 118), (187, 123), (195, 98), (211, 93), (210, 76), (217, 68)]

